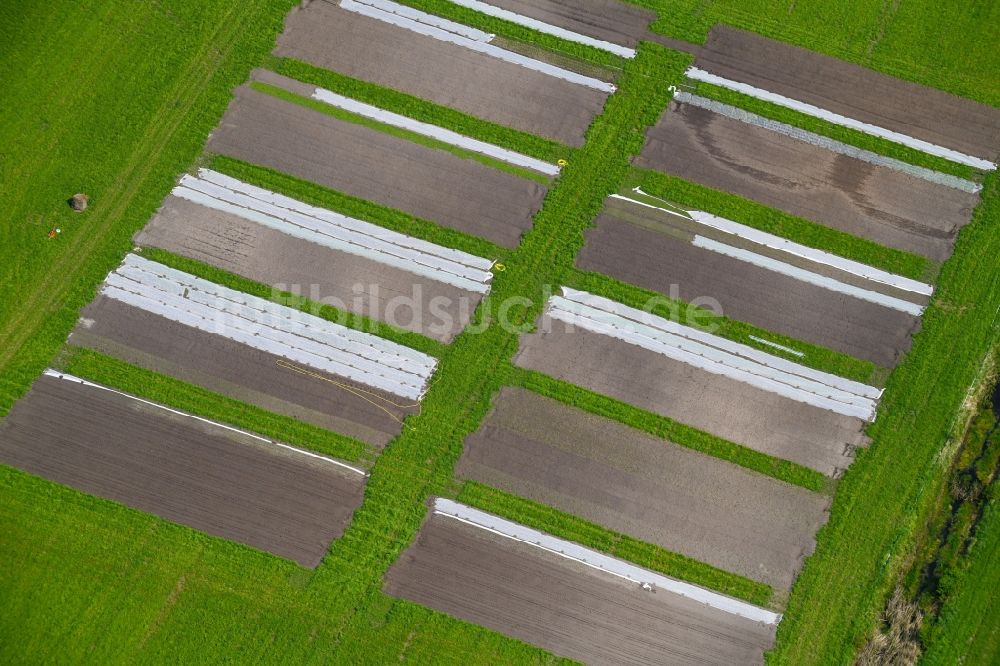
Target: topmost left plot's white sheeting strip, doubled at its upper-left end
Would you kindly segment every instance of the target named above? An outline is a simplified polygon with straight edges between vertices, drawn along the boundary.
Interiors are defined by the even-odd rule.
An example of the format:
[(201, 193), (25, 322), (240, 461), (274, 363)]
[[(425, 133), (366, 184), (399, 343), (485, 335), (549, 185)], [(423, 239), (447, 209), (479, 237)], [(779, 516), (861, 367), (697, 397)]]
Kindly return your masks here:
[[(584, 76), (583, 74), (577, 74), (576, 72), (572, 72), (568, 69), (556, 67), (555, 65), (550, 65), (547, 62), (535, 60), (534, 58), (523, 56), (520, 53), (514, 53), (513, 51), (493, 46), (487, 42), (470, 39), (469, 37), (465, 37), (461, 34), (437, 27), (432, 23), (433, 19), (429, 18), (431, 16), (430, 14), (417, 12), (416, 10), (396, 4), (395, 2), (388, 2), (387, 0), (364, 0), (364, 2), (356, 2), (355, 0), (340, 0), (340, 6), (348, 11), (362, 14), (379, 21), (384, 21), (385, 23), (389, 23), (400, 28), (406, 28), (407, 30), (411, 30), (427, 37), (433, 37), (434, 39), (442, 42), (449, 42), (458, 46), (464, 46), (469, 50), (477, 51), (484, 55), (492, 56), (498, 60), (504, 60), (514, 65), (520, 65), (525, 69), (531, 69), (536, 72), (548, 74), (549, 76), (557, 79), (569, 81), (570, 83), (576, 83), (578, 85), (593, 88), (594, 90), (600, 90), (601, 92), (609, 94), (615, 91), (615, 86), (612, 83), (607, 83), (590, 76)], [(420, 16), (415, 18), (418, 14)], [(441, 21), (443, 19), (437, 20)]]

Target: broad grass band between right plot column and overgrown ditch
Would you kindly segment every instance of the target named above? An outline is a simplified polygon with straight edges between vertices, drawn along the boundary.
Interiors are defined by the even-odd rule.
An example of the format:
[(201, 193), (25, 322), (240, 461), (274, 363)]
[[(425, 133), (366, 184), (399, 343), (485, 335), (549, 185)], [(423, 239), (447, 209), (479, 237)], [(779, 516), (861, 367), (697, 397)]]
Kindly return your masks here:
[(998, 185), (997, 174), (987, 178), (982, 203), (941, 271), (923, 329), (889, 378), (869, 428), (873, 443), (838, 484), (768, 663), (850, 662), (928, 520), (955, 455), (945, 444), (955, 436), (956, 414), (996, 339)]

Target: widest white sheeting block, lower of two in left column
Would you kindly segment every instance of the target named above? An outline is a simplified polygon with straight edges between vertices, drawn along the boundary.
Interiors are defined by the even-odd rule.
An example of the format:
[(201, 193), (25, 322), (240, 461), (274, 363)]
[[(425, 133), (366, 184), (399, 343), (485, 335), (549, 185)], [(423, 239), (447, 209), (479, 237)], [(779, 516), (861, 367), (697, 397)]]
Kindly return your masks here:
[(437, 361), (426, 354), (128, 255), (101, 293), (295, 363), (418, 400)]

